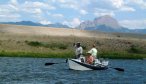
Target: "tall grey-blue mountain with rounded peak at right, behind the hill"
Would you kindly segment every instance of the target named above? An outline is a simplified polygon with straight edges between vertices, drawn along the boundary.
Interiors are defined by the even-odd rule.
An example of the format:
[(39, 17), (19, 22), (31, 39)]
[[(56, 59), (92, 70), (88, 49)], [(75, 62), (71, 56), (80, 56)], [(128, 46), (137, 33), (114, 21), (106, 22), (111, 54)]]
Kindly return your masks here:
[(116, 19), (109, 15), (101, 16), (95, 18), (93, 21), (82, 22), (79, 29), (84, 30), (100, 30), (104, 32), (122, 32), (122, 33), (144, 33), (146, 34), (146, 29), (135, 29), (130, 30), (128, 28), (122, 27)]

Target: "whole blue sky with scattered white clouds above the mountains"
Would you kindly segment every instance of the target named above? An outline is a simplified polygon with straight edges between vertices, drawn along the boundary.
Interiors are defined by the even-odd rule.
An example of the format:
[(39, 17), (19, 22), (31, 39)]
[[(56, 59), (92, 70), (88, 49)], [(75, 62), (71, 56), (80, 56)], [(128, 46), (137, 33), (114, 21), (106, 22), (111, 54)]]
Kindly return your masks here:
[(123, 27), (146, 29), (146, 0), (0, 0), (0, 22), (76, 27), (104, 15), (112, 16)]

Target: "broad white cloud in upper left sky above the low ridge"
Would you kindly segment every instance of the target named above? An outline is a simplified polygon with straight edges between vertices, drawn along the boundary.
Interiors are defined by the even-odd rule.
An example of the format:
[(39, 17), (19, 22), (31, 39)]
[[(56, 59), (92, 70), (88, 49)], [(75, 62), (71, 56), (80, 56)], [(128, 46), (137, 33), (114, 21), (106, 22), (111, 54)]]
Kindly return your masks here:
[[(27, 15), (33, 20), (36, 21), (43, 21), (46, 18), (46, 12), (50, 10), (56, 10), (56, 7), (39, 1), (25, 1), (24, 3), (20, 4), (19, 7), (21, 8), (21, 14)], [(29, 18), (28, 18), (29, 19)], [(45, 22), (44, 22), (45, 23)]]

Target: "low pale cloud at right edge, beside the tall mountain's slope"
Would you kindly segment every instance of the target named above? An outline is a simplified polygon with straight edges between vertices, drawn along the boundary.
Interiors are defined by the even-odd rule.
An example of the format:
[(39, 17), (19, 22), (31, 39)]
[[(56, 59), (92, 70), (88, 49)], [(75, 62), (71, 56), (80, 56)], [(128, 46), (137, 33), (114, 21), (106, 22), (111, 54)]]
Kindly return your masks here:
[(143, 29), (146, 28), (146, 20), (123, 20), (120, 24), (130, 29)]

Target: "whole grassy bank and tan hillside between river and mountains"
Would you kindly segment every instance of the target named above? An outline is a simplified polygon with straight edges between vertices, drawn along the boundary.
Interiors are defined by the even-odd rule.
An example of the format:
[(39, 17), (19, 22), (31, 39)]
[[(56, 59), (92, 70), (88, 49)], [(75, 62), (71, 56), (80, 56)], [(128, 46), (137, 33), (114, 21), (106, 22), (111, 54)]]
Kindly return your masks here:
[[(28, 28), (29, 30), (27, 30)], [(105, 33), (100, 31), (66, 29), (68, 34), (64, 35), (63, 31), (65, 29), (51, 31), (52, 29), (44, 28), (46, 30), (44, 31), (41, 27), (39, 29), (41, 33), (39, 33), (38, 28), (14, 25), (9, 25), (8, 27), (7, 25), (0, 26), (0, 56), (73, 58), (73, 43), (81, 42), (84, 48), (84, 55), (91, 49), (92, 44), (96, 44), (98, 57), (101, 58), (146, 58), (146, 36), (142, 34)], [(55, 33), (57, 30), (58, 32)], [(36, 32), (34, 33), (34, 31)]]

